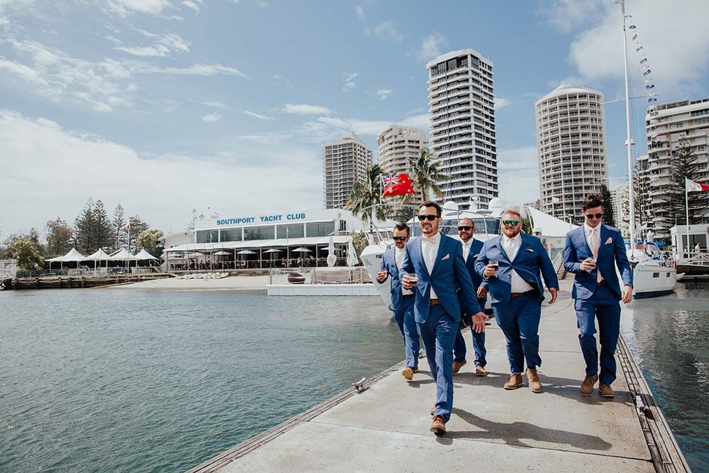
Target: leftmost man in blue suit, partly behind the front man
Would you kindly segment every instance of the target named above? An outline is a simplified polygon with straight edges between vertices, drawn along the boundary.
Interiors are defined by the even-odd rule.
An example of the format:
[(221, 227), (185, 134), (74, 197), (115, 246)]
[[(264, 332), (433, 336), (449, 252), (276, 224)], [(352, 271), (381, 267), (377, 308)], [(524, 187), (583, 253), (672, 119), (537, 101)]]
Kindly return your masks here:
[(393, 230), (394, 246), (381, 255), (381, 267), (376, 273), (380, 284), (391, 277), (391, 308), (394, 319), (403, 336), (404, 352), (406, 354), (406, 367), (401, 370), (401, 376), (406, 381), (413, 379), (413, 374), (418, 371), (418, 328), (413, 318), (413, 302), (415, 295), (410, 289), (401, 287), (399, 269), (403, 264), (404, 245), (409, 239), (409, 228), (406, 223), (397, 223)]

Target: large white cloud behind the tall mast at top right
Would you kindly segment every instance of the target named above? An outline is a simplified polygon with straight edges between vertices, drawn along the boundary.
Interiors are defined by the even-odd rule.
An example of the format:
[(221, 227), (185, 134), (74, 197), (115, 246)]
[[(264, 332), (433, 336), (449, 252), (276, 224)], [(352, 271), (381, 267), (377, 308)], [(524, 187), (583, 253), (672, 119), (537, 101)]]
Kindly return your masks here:
[[(551, 14), (561, 17), (564, 11), (568, 9), (552, 10)], [(603, 2), (597, 11), (579, 23), (586, 28), (576, 35), (569, 52), (571, 63), (586, 83), (623, 77), (620, 6)], [(581, 13), (579, 18), (583, 18)], [(626, 13), (632, 15), (637, 26), (642, 52), (647, 55), (659, 94), (703, 92), (699, 80), (709, 70), (709, 28), (705, 24), (709, 2), (688, 0), (681, 8), (667, 8), (663, 0), (647, 0), (628, 5)], [(628, 47), (629, 72), (634, 82), (640, 82), (641, 69), (630, 38)]]

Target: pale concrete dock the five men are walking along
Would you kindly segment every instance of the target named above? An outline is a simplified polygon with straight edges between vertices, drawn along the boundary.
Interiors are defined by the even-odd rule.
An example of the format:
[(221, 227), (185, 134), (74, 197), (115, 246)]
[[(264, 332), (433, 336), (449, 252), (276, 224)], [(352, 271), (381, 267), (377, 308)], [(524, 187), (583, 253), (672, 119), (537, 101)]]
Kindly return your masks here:
[(526, 377), (523, 388), (503, 389), (505, 340), (493, 321), (486, 330), (487, 377), (475, 377), (465, 334), (468, 364), (453, 377), (445, 435), (428, 430), (435, 384), (424, 358), (413, 382), (401, 377), (403, 363), (393, 366), (190, 472), (689, 471), (623, 338), (615, 399), (601, 398), (597, 389), (579, 394), (584, 360), (571, 280), (561, 285), (559, 301), (542, 311), (541, 394), (530, 391)]

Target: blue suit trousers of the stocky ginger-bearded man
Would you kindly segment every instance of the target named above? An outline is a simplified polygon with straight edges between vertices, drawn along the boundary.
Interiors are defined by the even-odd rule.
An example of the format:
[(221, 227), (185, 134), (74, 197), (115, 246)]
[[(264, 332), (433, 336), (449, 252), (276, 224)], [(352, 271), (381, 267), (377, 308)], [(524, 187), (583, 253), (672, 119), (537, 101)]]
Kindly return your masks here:
[(542, 299), (536, 294), (530, 294), (496, 302), (492, 308), (495, 320), (507, 339), (510, 373), (524, 372), (525, 359), (527, 367), (534, 369), (541, 366), (539, 321), (542, 316)]

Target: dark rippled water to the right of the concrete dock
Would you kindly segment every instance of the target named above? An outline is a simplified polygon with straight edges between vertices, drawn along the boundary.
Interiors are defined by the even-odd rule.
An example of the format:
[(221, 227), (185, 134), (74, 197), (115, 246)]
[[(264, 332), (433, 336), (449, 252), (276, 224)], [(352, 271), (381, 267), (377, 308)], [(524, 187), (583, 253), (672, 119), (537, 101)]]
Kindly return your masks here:
[(709, 472), (709, 282), (632, 302), (623, 335), (693, 472)]

